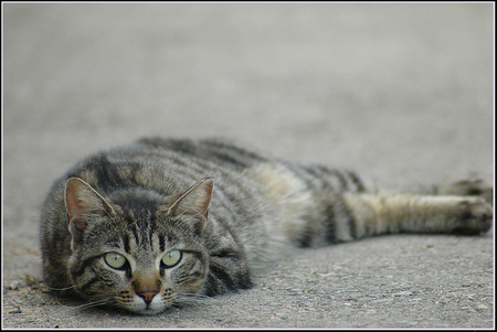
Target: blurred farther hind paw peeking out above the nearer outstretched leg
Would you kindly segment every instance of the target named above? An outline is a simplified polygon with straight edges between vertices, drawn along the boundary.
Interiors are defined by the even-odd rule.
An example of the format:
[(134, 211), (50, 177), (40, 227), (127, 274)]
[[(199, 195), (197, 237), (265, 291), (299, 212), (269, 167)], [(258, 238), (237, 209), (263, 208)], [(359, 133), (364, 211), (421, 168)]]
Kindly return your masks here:
[(442, 195), (482, 196), (487, 203), (493, 204), (494, 189), (491, 184), (482, 179), (466, 179), (438, 186)]

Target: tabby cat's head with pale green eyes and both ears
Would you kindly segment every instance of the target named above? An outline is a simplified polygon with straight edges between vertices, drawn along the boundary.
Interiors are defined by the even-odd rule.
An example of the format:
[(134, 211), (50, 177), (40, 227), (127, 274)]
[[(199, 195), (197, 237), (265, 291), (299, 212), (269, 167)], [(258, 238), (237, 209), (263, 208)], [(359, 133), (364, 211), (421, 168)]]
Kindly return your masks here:
[(166, 197), (139, 188), (104, 197), (70, 178), (70, 274), (78, 293), (140, 314), (198, 294), (209, 269), (202, 235), (212, 188), (213, 180), (203, 179)]

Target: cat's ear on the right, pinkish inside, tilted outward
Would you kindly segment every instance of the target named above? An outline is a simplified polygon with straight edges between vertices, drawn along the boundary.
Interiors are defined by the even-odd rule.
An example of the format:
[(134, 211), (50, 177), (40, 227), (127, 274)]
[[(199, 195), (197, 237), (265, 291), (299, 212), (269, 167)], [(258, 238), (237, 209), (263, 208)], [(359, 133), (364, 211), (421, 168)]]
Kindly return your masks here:
[(168, 215), (189, 215), (193, 217), (195, 231), (203, 233), (209, 214), (209, 203), (212, 197), (214, 179), (205, 178), (197, 182), (186, 192), (173, 196), (173, 203), (168, 208)]

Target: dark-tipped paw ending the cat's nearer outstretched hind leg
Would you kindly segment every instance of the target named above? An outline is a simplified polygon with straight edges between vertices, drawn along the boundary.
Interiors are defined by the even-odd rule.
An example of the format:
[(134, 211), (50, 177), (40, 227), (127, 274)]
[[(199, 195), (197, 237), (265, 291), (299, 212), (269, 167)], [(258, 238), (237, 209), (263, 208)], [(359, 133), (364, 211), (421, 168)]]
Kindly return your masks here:
[(482, 197), (467, 197), (457, 204), (456, 226), (458, 235), (479, 235), (491, 227), (493, 207)]

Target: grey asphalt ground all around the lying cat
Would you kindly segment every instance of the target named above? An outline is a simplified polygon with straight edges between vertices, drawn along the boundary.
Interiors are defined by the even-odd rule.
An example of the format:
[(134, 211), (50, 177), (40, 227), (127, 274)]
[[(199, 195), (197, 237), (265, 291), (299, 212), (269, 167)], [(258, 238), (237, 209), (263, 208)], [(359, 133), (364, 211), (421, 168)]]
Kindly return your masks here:
[(493, 3), (2, 14), (3, 328), (495, 328), (493, 231), (298, 250), (252, 290), (137, 317), (46, 293), (38, 221), (76, 160), (150, 135), (233, 137), (388, 186), (493, 182)]

